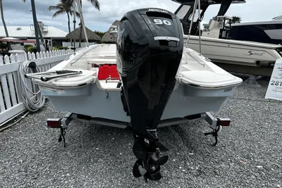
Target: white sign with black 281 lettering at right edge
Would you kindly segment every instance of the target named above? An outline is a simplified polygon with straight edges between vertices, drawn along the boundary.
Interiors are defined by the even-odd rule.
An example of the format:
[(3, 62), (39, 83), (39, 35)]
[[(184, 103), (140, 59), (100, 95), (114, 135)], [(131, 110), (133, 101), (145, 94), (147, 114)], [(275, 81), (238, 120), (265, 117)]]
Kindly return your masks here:
[(282, 58), (278, 58), (275, 62), (265, 99), (282, 101)]

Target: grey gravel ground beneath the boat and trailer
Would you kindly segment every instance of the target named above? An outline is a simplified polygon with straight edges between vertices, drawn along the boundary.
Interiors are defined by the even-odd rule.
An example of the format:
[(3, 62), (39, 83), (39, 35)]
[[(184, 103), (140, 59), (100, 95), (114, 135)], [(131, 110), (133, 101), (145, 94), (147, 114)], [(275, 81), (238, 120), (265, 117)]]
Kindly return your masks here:
[(282, 102), (264, 99), (262, 87), (241, 85), (221, 110), (231, 118), (216, 147), (207, 123), (159, 129), (170, 159), (162, 180), (135, 179), (133, 137), (127, 130), (73, 121), (67, 147), (47, 118), (61, 118), (49, 102), (0, 132), (0, 187), (282, 187)]

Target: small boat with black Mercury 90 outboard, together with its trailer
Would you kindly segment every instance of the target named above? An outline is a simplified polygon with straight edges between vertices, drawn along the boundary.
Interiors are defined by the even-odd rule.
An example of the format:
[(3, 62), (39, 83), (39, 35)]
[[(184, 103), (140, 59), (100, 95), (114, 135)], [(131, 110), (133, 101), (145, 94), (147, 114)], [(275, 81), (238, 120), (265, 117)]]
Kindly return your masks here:
[(126, 13), (116, 44), (87, 46), (47, 72), (25, 76), (56, 110), (69, 112), (47, 120), (61, 129), (59, 141), (65, 142), (73, 119), (131, 130), (133, 175), (146, 181), (160, 180), (160, 166), (168, 161), (160, 157), (168, 149), (158, 128), (205, 119), (217, 143), (230, 120), (209, 111), (218, 111), (243, 81), (189, 49), (178, 17), (160, 8)]

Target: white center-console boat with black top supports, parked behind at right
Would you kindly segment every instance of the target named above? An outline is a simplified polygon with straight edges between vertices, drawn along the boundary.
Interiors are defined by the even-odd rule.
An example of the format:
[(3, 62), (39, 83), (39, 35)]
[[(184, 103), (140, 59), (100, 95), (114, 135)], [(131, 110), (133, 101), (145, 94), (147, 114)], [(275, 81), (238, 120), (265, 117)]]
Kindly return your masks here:
[[(187, 38), (195, 0), (175, 1), (181, 4), (176, 10), (176, 15), (178, 15), (183, 24), (184, 38)], [(223, 68), (228, 71), (271, 75), (276, 59), (282, 56), (282, 46), (278, 44), (230, 39), (229, 32), (231, 25), (228, 25), (227, 22), (231, 18), (224, 14), (231, 3), (245, 3), (245, 0), (226, 0), (225, 2), (227, 2), (228, 5), (224, 6), (221, 4), (221, 0), (201, 1), (200, 16), (196, 16), (192, 22), (192, 30), (189, 39), (190, 48), (199, 51), (199, 36), (197, 36), (197, 27), (195, 27), (198, 18), (202, 19), (204, 17), (204, 12), (210, 5), (221, 4), (219, 14), (212, 18), (209, 21), (209, 26), (202, 31), (202, 54), (211, 59), (216, 65), (223, 65)]]

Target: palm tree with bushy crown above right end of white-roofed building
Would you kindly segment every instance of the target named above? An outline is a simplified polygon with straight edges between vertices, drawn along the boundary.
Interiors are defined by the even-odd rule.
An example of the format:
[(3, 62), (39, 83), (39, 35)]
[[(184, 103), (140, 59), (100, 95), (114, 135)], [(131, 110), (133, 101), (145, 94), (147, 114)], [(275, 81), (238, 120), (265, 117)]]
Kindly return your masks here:
[[(56, 11), (52, 18), (55, 18), (57, 15), (61, 15), (63, 13), (68, 15), (68, 33), (71, 32), (70, 15), (73, 15), (73, 10), (73, 0), (60, 0), (59, 4), (49, 6), (48, 8), (48, 11)], [(80, 18), (80, 13), (75, 11), (75, 16)]]

